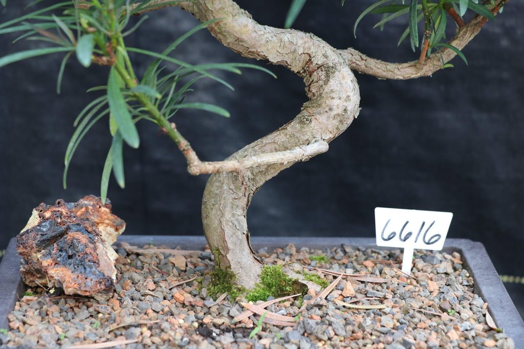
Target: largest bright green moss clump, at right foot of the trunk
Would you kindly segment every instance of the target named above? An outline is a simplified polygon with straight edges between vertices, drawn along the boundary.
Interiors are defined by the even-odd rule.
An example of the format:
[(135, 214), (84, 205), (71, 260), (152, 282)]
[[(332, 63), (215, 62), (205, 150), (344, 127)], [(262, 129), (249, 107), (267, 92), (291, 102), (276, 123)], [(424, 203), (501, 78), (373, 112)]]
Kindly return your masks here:
[(297, 279), (290, 278), (282, 271), (282, 266), (271, 265), (262, 268), (260, 282), (247, 294), (247, 300), (267, 300), (269, 296), (280, 298), (305, 292), (305, 286)]

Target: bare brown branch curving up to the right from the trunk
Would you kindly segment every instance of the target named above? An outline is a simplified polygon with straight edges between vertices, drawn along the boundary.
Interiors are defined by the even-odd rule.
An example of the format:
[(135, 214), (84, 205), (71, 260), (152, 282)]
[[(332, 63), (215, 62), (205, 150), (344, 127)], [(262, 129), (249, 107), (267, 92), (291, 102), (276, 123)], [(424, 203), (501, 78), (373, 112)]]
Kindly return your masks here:
[[(506, 0), (498, 0), (493, 8), (496, 15), (500, 6)], [(462, 50), (477, 34), (486, 23), (487, 18), (475, 15), (466, 25), (459, 28), (457, 34), (448, 42), (449, 45)], [(406, 63), (391, 63), (378, 59), (370, 58), (353, 48), (340, 50), (340, 54), (346, 60), (351, 69), (359, 73), (373, 75), (379, 79), (407, 80), (420, 77), (428, 77), (434, 72), (442, 69), (443, 63), (449, 62), (456, 56), (456, 53), (449, 48), (443, 48), (439, 52), (431, 54), (430, 57), (420, 62), (411, 61)]]

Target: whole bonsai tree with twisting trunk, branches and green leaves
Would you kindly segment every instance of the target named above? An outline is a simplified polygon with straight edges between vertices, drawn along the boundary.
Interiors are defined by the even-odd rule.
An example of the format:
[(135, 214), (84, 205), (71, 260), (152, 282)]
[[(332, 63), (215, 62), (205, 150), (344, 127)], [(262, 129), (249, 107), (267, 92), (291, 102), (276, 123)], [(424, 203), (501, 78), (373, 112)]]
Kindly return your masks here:
[[(292, 26), (304, 2), (292, 2), (288, 27)], [(239, 286), (250, 289), (262, 268), (249, 244), (246, 214), (250, 201), (267, 180), (283, 169), (327, 151), (330, 141), (357, 117), (359, 89), (353, 71), (380, 79), (413, 79), (449, 68), (449, 61), (455, 56), (466, 60), (461, 50), (504, 4), (505, 0), (484, 4), (474, 0), (374, 1), (358, 17), (355, 30), (367, 15), (383, 15), (378, 27), (405, 15), (406, 30), (400, 41), (409, 40), (413, 49), (420, 51), (416, 60), (390, 63), (367, 57), (352, 48), (334, 48), (313, 34), (258, 24), (232, 0), (64, 2), (0, 25), (0, 33), (21, 31), (23, 37), (50, 42), (47, 48), (2, 57), (0, 67), (21, 59), (63, 52), (60, 81), (65, 62), (71, 56), (76, 56), (85, 67), (91, 64), (107, 66), (107, 85), (95, 88), (105, 93), (86, 106), (75, 121), (77, 130), (65, 155), (64, 184), (71, 157), (83, 135), (94, 123), (109, 115), (113, 141), (102, 173), (101, 197), (105, 200), (111, 172), (118, 184), (124, 186), (122, 149), (124, 144), (139, 146), (135, 124), (142, 119), (157, 124), (187, 159), (191, 174), (213, 173), (202, 200), (204, 233), (217, 266), (231, 271)], [(340, 5), (332, 4), (341, 5), (344, 1)], [(187, 10), (202, 25), (171, 43), (163, 52), (125, 45), (126, 36), (136, 29), (126, 27), (130, 16), (144, 15), (167, 6)], [(467, 23), (463, 16), (470, 18)], [(419, 30), (419, 23), (422, 30)], [(445, 29), (451, 25), (456, 27), (456, 35), (446, 40)], [(203, 28), (208, 28), (224, 46), (242, 56), (280, 64), (299, 75), (309, 99), (292, 121), (217, 162), (202, 161), (170, 117), (180, 108), (196, 108), (223, 116), (228, 113), (216, 105), (184, 103), (184, 93), (201, 78), (228, 85), (213, 73), (213, 69), (238, 72), (239, 68), (254, 68), (270, 72), (241, 63), (194, 66), (169, 56), (183, 39)], [(136, 75), (128, 52), (154, 58), (143, 76)], [(162, 61), (179, 68), (166, 73), (162, 70)]]

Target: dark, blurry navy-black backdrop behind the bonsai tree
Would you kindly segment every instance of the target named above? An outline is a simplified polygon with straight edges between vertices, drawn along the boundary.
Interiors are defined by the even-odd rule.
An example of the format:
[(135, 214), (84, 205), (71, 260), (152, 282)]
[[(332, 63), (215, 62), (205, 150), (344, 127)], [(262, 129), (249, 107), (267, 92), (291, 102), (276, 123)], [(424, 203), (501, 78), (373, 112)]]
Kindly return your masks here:
[[(0, 21), (23, 13), (29, 1), (8, 1)], [(49, 2), (48, 2), (49, 3)], [(239, 1), (261, 24), (283, 25), (290, 1)], [(353, 24), (370, 2), (310, 0), (294, 28), (313, 32), (337, 48), (355, 47), (393, 62), (418, 58), (406, 40), (402, 18), (381, 32), (380, 19), (366, 17), (353, 37)], [(524, 222), (524, 32), (522, 2), (510, 2), (464, 49), (455, 68), (432, 78), (384, 81), (357, 74), (362, 111), (330, 151), (298, 163), (265, 184), (249, 210), (255, 236), (374, 236), (374, 208), (453, 212), (448, 236), (484, 243), (499, 274), (522, 275)], [(198, 22), (178, 8), (150, 14), (127, 45), (161, 51)], [(449, 34), (453, 34), (449, 20)], [(40, 46), (0, 37), (0, 56)], [(190, 63), (242, 62), (206, 31), (174, 52)], [(0, 248), (24, 227), (31, 209), (58, 198), (75, 201), (100, 192), (110, 146), (107, 120), (84, 138), (62, 188), (63, 155), (73, 120), (93, 99), (85, 91), (104, 85), (107, 68), (68, 63), (62, 94), (55, 92), (61, 55), (0, 69)], [(133, 57), (143, 72), (149, 59)], [(258, 64), (265, 64), (259, 62)], [(203, 160), (221, 160), (288, 122), (305, 102), (300, 78), (268, 66), (275, 80), (259, 71), (225, 74), (236, 91), (201, 81), (188, 101), (227, 108), (226, 119), (180, 111), (176, 122)], [(207, 176), (185, 171), (185, 159), (152, 124), (139, 125), (140, 148), (125, 148), (126, 188), (112, 180), (113, 212), (127, 222), (126, 234), (202, 234), (200, 199)], [(285, 244), (282, 241), (282, 244)], [(517, 304), (524, 286), (506, 284)], [(522, 312), (521, 312), (522, 313)]]

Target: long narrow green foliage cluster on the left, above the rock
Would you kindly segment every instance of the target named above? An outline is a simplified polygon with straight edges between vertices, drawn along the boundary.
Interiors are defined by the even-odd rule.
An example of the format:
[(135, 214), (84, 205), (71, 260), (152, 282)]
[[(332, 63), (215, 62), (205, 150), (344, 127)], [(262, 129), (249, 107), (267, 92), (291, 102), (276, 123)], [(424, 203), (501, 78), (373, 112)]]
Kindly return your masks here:
[[(35, 1), (30, 6), (45, 2)], [(178, 1), (169, 2), (175, 4)], [(5, 6), (6, 1), (2, 1)], [(125, 38), (132, 34), (147, 16), (136, 25), (127, 28), (130, 17), (154, 6), (154, 1), (144, 0), (90, 0), (53, 3), (31, 13), (0, 24), (0, 35), (20, 33), (20, 39), (39, 40), (48, 47), (15, 52), (0, 57), (0, 67), (20, 60), (53, 53), (65, 53), (58, 74), (57, 92), (60, 93), (63, 72), (69, 58), (75, 54), (82, 66), (92, 63), (108, 67), (107, 85), (89, 90), (103, 91), (77, 116), (76, 127), (65, 151), (63, 186), (67, 187), (67, 172), (74, 152), (86, 133), (102, 118), (108, 118), (113, 141), (107, 153), (101, 180), (101, 197), (105, 201), (110, 174), (113, 172), (118, 185), (125, 186), (123, 147), (124, 144), (138, 148), (140, 144), (136, 124), (141, 120), (157, 124), (163, 132), (180, 145), (184, 138), (172, 129), (169, 119), (181, 108), (212, 112), (229, 117), (224, 108), (208, 103), (184, 103), (185, 95), (193, 91), (193, 84), (208, 78), (233, 90), (233, 86), (218, 77), (213, 70), (240, 74), (239, 68), (265, 71), (265, 68), (246, 63), (190, 64), (172, 58), (169, 54), (180, 43), (195, 32), (206, 28), (217, 19), (207, 21), (189, 30), (176, 39), (163, 52), (152, 52), (125, 46)], [(128, 52), (143, 54), (154, 59), (139, 79), (134, 72)], [(162, 62), (176, 67), (165, 69)]]

